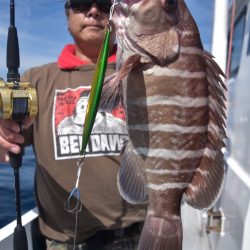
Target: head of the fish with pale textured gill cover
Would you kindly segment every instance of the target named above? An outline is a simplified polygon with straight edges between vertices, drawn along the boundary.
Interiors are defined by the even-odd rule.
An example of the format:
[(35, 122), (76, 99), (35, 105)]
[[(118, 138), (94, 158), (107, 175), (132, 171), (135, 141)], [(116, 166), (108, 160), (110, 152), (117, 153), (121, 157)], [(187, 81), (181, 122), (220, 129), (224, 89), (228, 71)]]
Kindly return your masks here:
[(115, 12), (119, 46), (161, 66), (178, 59), (187, 29), (198, 31), (184, 0), (121, 0)]

